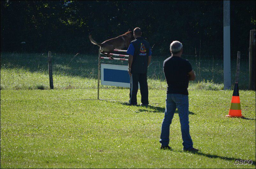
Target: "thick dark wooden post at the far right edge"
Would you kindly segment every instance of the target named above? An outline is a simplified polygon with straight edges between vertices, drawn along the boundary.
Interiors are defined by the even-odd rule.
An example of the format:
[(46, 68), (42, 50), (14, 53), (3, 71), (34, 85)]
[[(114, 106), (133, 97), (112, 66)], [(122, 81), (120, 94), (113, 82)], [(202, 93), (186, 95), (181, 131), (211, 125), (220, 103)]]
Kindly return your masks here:
[(250, 31), (249, 90), (255, 90), (255, 30)]

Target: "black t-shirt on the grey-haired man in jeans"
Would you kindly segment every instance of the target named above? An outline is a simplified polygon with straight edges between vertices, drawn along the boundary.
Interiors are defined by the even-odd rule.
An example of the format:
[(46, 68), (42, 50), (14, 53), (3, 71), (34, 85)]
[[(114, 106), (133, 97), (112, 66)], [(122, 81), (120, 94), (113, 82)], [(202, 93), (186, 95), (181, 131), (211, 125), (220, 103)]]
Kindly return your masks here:
[(192, 66), (188, 60), (172, 56), (163, 62), (163, 72), (167, 82), (167, 93), (188, 95), (188, 72)]

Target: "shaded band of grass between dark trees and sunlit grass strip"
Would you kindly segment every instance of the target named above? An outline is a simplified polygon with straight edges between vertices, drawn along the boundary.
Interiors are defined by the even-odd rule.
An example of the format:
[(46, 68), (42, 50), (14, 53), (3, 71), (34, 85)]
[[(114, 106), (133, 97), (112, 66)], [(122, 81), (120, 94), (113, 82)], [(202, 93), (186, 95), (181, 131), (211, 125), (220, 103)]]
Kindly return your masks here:
[[(98, 54), (57, 54), (52, 53), (53, 74), (79, 76), (82, 78), (97, 79)], [(166, 56), (153, 56), (148, 67), (148, 78), (164, 81), (162, 71), (163, 61)], [(189, 60), (196, 73), (196, 82), (212, 81), (223, 83), (223, 56), (197, 56), (182, 55)], [(121, 57), (122, 58), (122, 57)], [(236, 58), (236, 56), (231, 56)], [(127, 61), (106, 60), (105, 64), (127, 65)], [(231, 59), (231, 82), (235, 81), (237, 59)], [(1, 68), (20, 67), (31, 72), (43, 71), (48, 73), (48, 53), (1, 53)], [(249, 83), (248, 55), (241, 54), (239, 86), (247, 89)]]

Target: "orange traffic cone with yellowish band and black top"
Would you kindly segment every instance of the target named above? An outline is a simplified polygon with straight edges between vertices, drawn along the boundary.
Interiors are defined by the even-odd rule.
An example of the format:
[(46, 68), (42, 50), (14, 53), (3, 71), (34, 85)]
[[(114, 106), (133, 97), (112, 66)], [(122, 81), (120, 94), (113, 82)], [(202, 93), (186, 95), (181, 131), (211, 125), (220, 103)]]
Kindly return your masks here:
[(241, 112), (238, 83), (235, 83), (235, 88), (234, 88), (233, 96), (231, 99), (229, 115), (226, 115), (226, 117), (240, 117), (240, 118), (244, 117), (242, 116), (242, 112)]

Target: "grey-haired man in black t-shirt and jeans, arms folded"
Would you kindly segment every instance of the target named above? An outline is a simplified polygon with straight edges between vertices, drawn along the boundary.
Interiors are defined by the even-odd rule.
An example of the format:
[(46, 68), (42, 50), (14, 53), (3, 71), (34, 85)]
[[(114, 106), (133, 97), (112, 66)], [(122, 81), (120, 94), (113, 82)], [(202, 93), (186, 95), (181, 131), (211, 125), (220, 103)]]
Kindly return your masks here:
[(169, 130), (173, 115), (178, 108), (181, 134), (183, 139), (183, 150), (197, 152), (193, 148), (193, 142), (189, 133), (188, 120), (188, 82), (195, 80), (195, 72), (188, 60), (181, 58), (183, 45), (179, 41), (170, 44), (171, 57), (163, 62), (164, 76), (167, 82), (166, 109), (162, 122), (160, 136), (161, 149), (171, 149), (169, 147)]

